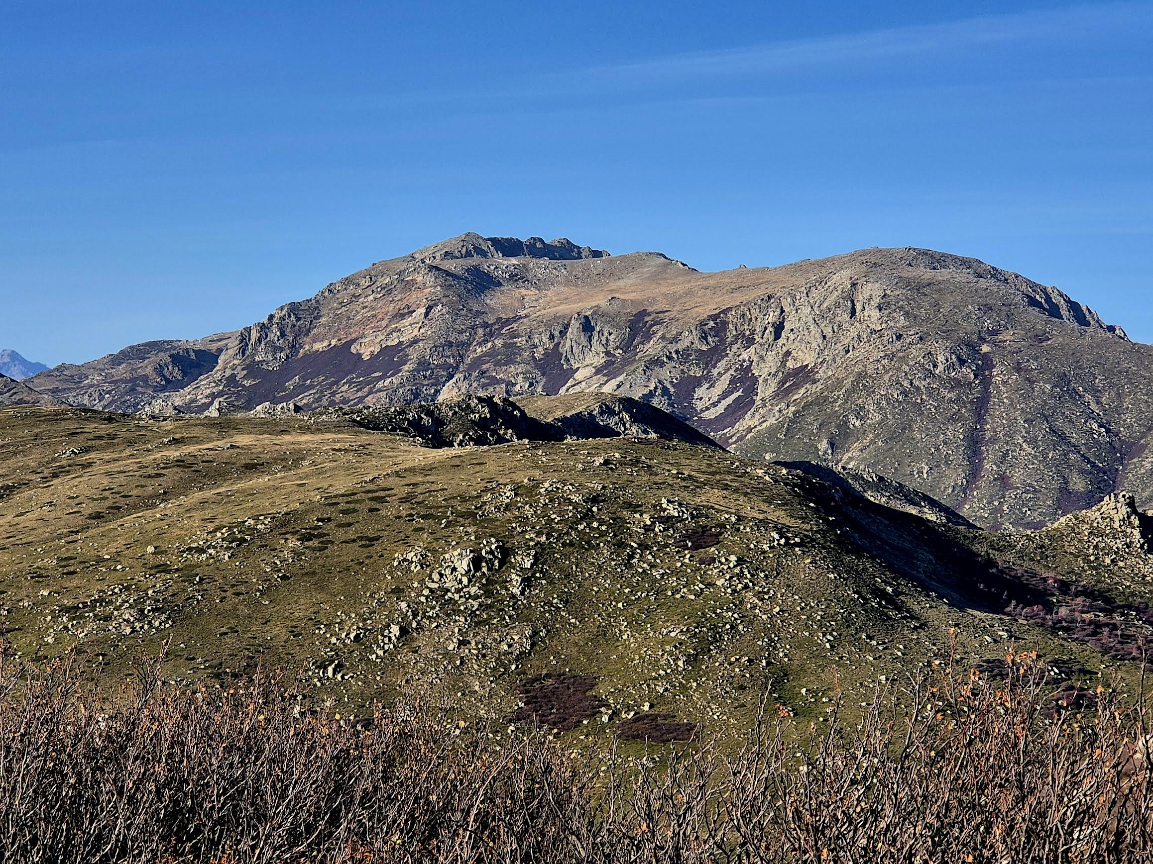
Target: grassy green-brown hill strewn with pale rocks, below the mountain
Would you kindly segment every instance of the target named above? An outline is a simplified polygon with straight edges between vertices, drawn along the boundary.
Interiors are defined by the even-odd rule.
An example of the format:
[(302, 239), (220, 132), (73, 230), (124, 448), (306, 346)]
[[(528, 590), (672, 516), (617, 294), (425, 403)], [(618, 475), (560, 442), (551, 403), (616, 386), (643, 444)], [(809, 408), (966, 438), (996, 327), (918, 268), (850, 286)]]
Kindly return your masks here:
[(113, 676), (168, 642), (178, 679), (259, 661), (349, 711), (432, 684), (482, 717), (661, 740), (747, 729), (766, 692), (820, 722), (838, 684), (859, 704), (952, 639), (990, 675), (1034, 650), (1071, 689), (1153, 631), (1131, 495), (987, 532), (876, 475), (666, 440), (672, 418), (559, 440), (604, 399), (526, 402), (436, 406), (435, 446), (377, 431), (379, 409), (5, 409), (5, 639), (85, 645)]

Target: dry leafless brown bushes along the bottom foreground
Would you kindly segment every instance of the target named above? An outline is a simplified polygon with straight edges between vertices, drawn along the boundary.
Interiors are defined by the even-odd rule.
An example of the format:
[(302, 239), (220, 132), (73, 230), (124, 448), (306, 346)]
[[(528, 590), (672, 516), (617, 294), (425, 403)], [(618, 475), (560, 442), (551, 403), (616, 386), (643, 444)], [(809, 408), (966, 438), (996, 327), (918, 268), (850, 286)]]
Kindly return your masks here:
[(421, 706), (301, 712), (276, 679), (176, 688), (149, 667), (107, 700), (73, 664), (9, 662), (0, 858), (1153, 861), (1143, 713), (1109, 692), (1054, 713), (1030, 664), (1008, 668), (941, 674), (820, 735), (781, 718), (739, 752), (631, 759)]

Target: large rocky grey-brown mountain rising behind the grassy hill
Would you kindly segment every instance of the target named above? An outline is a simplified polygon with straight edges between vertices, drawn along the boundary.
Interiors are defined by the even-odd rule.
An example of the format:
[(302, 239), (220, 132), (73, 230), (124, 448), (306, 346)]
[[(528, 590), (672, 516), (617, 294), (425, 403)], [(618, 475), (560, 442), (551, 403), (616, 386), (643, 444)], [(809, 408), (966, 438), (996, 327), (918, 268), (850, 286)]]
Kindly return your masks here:
[(925, 249), (699, 273), (658, 252), (466, 234), (235, 333), (31, 384), (193, 414), (603, 392), (737, 453), (874, 472), (994, 528), (1153, 490), (1153, 347), (1056, 288)]

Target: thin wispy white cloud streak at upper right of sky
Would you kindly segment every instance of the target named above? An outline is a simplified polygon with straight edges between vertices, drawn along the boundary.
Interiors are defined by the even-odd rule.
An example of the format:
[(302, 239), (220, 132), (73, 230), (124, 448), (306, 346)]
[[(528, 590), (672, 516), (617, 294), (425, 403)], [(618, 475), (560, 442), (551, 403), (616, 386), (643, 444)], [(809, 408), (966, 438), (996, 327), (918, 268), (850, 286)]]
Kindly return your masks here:
[(672, 54), (635, 63), (591, 67), (575, 77), (590, 85), (647, 86), (822, 67), (862, 67), (1011, 44), (1085, 43), (1141, 32), (1146, 38), (1153, 32), (1153, 2), (1107, 2)]

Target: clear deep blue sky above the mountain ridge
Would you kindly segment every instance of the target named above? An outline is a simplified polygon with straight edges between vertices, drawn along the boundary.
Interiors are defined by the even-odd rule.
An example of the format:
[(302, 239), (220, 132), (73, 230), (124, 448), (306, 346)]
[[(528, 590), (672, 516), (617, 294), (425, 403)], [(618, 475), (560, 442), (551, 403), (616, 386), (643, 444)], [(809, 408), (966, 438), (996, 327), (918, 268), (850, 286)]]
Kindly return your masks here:
[(0, 6), (0, 347), (232, 329), (465, 230), (929, 247), (1153, 341), (1153, 1)]

